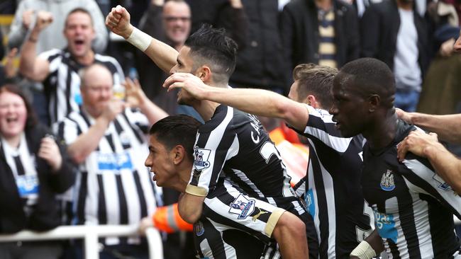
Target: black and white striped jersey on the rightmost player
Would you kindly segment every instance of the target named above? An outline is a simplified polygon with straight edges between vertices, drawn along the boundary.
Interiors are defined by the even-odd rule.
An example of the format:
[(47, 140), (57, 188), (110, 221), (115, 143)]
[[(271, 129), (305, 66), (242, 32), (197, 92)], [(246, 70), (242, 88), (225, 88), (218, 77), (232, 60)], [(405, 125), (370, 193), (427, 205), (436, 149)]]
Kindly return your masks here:
[(397, 160), (396, 145), (412, 130), (421, 129), (399, 120), (389, 146), (364, 146), (362, 189), (376, 229), (389, 258), (461, 258), (453, 223), (453, 214), (461, 219), (461, 197), (428, 160)]

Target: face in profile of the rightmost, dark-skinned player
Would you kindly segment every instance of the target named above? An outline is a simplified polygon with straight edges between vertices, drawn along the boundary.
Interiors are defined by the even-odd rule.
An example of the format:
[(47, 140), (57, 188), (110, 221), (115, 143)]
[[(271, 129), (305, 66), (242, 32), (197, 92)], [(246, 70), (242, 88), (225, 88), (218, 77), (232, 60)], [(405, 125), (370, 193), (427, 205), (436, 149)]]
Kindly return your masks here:
[(350, 80), (335, 81), (332, 89), (333, 105), (330, 114), (343, 137), (354, 137), (365, 129), (367, 102)]

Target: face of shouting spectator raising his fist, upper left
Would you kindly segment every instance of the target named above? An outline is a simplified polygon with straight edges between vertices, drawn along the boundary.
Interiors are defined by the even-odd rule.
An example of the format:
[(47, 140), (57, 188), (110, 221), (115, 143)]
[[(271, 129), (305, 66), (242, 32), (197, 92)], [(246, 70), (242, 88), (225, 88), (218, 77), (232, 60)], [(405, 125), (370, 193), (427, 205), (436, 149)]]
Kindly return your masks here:
[(72, 55), (84, 57), (91, 50), (91, 42), (95, 35), (91, 17), (83, 12), (72, 13), (67, 17), (64, 35)]

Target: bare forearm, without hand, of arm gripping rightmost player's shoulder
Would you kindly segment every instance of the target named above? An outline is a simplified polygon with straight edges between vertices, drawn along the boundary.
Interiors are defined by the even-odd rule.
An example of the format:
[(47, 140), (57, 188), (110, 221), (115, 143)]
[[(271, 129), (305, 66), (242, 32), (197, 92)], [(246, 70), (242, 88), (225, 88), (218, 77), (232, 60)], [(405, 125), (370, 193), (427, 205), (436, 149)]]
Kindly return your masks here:
[(461, 160), (457, 159), (440, 143), (426, 146), (424, 155), (431, 162), (435, 172), (451, 186), (455, 192), (461, 194)]

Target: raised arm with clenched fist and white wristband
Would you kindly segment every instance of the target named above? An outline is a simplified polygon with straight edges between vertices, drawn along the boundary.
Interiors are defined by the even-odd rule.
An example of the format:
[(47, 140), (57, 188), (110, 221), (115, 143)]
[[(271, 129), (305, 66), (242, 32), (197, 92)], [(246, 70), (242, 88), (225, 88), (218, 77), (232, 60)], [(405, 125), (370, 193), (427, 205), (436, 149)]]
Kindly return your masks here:
[[(160, 69), (166, 73), (176, 64), (178, 52), (170, 45), (150, 37), (130, 23), (130, 13), (126, 8), (117, 6), (106, 17), (106, 26), (122, 36), (132, 45), (147, 54)], [(160, 26), (160, 25), (159, 25)]]

